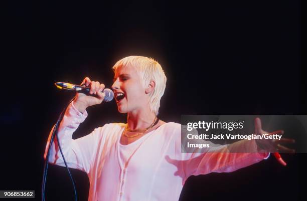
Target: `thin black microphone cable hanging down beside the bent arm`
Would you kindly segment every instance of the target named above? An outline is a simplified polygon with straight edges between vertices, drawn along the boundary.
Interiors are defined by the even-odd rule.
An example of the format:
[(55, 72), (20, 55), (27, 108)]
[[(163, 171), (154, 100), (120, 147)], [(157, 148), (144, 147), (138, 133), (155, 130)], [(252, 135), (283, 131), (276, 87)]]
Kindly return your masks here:
[[(75, 97), (73, 97), (68, 104), (70, 104), (73, 100), (75, 99)], [(51, 139), (50, 139), (50, 143), (49, 143), (49, 147), (48, 147), (48, 151), (47, 151), (47, 155), (46, 155), (46, 159), (45, 159), (45, 164), (44, 164), (44, 172), (43, 172), (43, 182), (42, 182), (42, 201), (45, 201), (45, 189), (46, 189), (46, 180), (47, 180), (47, 172), (48, 172), (48, 164), (49, 164), (49, 155), (50, 155), (50, 149), (51, 149), (51, 145), (53, 143), (53, 140), (54, 140), (54, 136), (56, 135), (56, 138), (57, 138), (57, 142), (58, 142), (58, 146), (59, 146), (59, 149), (60, 149), (60, 152), (61, 152), (61, 155), (62, 155), (62, 158), (63, 158), (63, 161), (65, 163), (65, 166), (66, 166), (66, 169), (68, 171), (68, 174), (69, 174), (69, 177), (72, 181), (72, 184), (73, 184), (73, 187), (74, 187), (74, 192), (75, 192), (75, 201), (77, 201), (77, 190), (76, 190), (76, 185), (75, 185), (75, 182), (74, 182), (74, 179), (70, 173), (70, 170), (68, 168), (68, 165), (66, 163), (66, 160), (65, 160), (65, 157), (64, 157), (64, 154), (62, 152), (62, 148), (61, 148), (61, 145), (60, 145), (60, 141), (59, 141), (59, 136), (58, 136), (58, 126), (60, 124), (60, 122), (62, 121), (63, 119), (63, 116), (64, 116), (64, 113), (66, 111), (67, 108), (65, 108), (59, 118), (58, 118), (58, 121), (57, 123), (55, 124), (54, 128), (53, 128), (53, 131), (52, 131), (52, 135), (51, 135)]]

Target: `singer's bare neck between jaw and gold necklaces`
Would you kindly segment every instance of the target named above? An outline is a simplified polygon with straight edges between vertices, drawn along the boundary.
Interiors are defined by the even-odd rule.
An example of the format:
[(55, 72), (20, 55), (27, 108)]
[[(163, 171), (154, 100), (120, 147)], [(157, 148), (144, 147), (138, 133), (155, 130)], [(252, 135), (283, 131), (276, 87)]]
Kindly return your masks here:
[(128, 129), (145, 129), (155, 120), (156, 114), (149, 109), (129, 112), (127, 115)]

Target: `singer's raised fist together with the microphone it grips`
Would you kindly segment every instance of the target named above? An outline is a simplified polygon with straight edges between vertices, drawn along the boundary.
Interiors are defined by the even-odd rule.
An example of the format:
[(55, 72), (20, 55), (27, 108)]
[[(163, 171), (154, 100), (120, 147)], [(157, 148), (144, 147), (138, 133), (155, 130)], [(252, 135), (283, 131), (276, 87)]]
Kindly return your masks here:
[(57, 82), (56, 86), (60, 89), (65, 88), (77, 92), (73, 104), (82, 113), (86, 108), (100, 104), (102, 101), (111, 101), (114, 97), (112, 90), (104, 89), (104, 84), (91, 81), (88, 77), (84, 78), (81, 86), (60, 82)]

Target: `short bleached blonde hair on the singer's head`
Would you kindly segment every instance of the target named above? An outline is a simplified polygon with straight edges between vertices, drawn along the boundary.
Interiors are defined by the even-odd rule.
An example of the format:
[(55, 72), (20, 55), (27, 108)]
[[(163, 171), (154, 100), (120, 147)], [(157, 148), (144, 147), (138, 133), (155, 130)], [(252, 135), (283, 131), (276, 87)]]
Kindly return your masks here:
[(164, 94), (167, 77), (161, 65), (154, 59), (142, 56), (125, 57), (113, 66), (114, 73), (118, 67), (131, 65), (140, 76), (143, 87), (146, 88), (150, 81), (156, 83), (155, 89), (150, 93), (149, 107), (156, 115), (159, 113), (160, 100)]

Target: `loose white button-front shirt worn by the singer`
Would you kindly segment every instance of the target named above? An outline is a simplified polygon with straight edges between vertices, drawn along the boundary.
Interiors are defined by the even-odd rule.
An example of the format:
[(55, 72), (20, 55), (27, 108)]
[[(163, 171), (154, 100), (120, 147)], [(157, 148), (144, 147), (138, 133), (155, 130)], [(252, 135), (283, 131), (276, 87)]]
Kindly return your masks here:
[[(221, 153), (227, 149), (225, 145), (213, 153), (181, 153), (181, 124), (174, 122), (161, 125), (129, 145), (119, 143), (125, 125), (122, 123), (105, 124), (72, 139), (86, 117), (87, 112), (80, 113), (71, 103), (58, 135), (68, 166), (85, 171), (89, 177), (89, 201), (178, 201), (189, 176), (235, 171), (269, 155)], [(244, 146), (256, 145), (248, 140)], [(49, 162), (65, 166), (56, 140)]]

